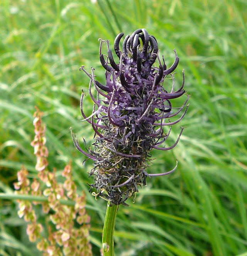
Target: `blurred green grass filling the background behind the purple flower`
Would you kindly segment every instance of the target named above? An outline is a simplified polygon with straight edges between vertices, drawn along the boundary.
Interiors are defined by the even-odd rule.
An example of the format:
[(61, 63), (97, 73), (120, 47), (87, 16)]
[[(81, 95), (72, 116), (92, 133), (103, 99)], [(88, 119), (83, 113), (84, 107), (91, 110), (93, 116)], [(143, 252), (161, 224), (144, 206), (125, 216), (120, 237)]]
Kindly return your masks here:
[[(90, 125), (80, 122), (80, 90), (88, 78), (81, 65), (96, 68), (98, 38), (113, 40), (119, 32), (145, 27), (156, 36), (167, 63), (176, 48), (186, 90), (191, 93), (186, 130), (170, 152), (154, 151), (153, 177), (140, 189), (135, 204), (120, 207), (116, 222), (116, 255), (247, 255), (247, 18), (244, 0), (2, 0), (0, 3), (0, 190), (12, 191), (24, 164), (36, 175), (30, 141), (32, 114), (44, 111), (50, 169), (73, 160), (79, 189), (91, 183), (83, 155), (73, 147), (78, 137), (93, 140)], [(167, 87), (171, 84), (167, 80)], [(174, 104), (181, 103), (179, 100)], [(86, 114), (92, 103), (85, 99)], [(179, 133), (173, 128), (172, 144)], [(173, 141), (172, 141), (173, 140)], [(58, 177), (59, 178), (59, 177)], [(98, 255), (105, 201), (88, 193), (91, 241)], [(33, 255), (15, 202), (0, 201), (0, 255)], [(36, 252), (37, 255), (40, 255)]]

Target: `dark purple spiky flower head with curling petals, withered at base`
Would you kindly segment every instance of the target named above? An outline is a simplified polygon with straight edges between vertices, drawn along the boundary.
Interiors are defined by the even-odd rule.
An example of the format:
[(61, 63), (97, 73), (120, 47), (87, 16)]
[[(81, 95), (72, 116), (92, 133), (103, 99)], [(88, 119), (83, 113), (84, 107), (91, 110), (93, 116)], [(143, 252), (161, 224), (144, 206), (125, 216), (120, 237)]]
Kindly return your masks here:
[[(90, 175), (94, 175), (95, 196), (109, 200), (113, 205), (125, 204), (125, 200), (138, 191), (138, 185), (145, 185), (147, 176), (161, 176), (173, 172), (176, 167), (163, 174), (148, 174), (147, 162), (150, 161), (150, 151), (153, 148), (169, 150), (175, 147), (181, 136), (171, 147), (159, 147), (169, 136), (164, 133), (163, 126), (178, 123), (184, 113), (176, 121), (169, 118), (176, 116), (185, 107), (172, 113), (170, 99), (182, 96), (186, 91), (183, 84), (175, 91), (174, 75), (171, 74), (178, 66), (179, 58), (176, 50), (175, 61), (167, 69), (164, 56), (162, 62), (158, 56), (158, 45), (154, 36), (145, 29), (137, 29), (131, 36), (123, 40), (122, 51), (119, 49), (123, 33), (118, 34), (114, 42), (114, 50), (118, 57), (113, 59), (109, 41), (100, 40), (100, 62), (105, 68), (105, 85), (95, 80), (94, 69), (91, 74), (83, 70), (90, 78), (89, 95), (94, 102), (93, 113), (86, 117), (83, 112), (83, 96), (81, 95), (81, 114), (84, 120), (91, 124), (95, 131), (94, 150), (85, 152), (81, 149), (75, 135), (75, 147), (90, 159), (95, 161)], [(102, 54), (102, 43), (107, 43), (107, 56)], [(157, 59), (159, 67), (155, 67)], [(167, 92), (163, 82), (167, 75), (173, 80), (172, 89)], [(97, 97), (91, 93), (91, 85), (97, 90)]]

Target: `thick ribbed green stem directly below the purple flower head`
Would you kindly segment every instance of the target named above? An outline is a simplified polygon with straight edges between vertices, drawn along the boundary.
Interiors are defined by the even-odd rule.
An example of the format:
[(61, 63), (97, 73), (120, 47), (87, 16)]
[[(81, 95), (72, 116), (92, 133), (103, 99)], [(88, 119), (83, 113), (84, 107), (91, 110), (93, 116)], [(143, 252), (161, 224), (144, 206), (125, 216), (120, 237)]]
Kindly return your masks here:
[(113, 233), (117, 215), (117, 208), (117, 205), (109, 206), (108, 202), (107, 212), (105, 213), (105, 223), (102, 237), (103, 256), (114, 256)]

